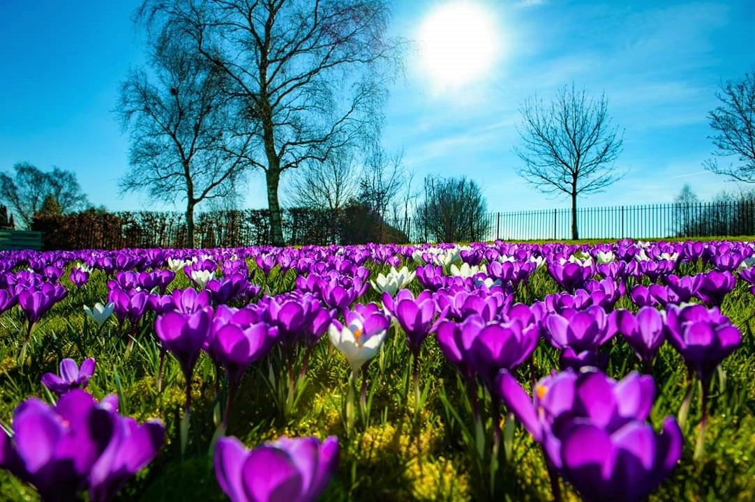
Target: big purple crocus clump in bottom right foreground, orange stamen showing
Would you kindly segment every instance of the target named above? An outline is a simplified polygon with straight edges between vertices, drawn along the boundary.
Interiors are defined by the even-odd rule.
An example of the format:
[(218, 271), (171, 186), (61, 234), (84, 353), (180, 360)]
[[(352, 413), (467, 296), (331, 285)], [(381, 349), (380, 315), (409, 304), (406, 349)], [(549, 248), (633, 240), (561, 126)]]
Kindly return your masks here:
[(617, 382), (600, 371), (563, 371), (541, 379), (532, 398), (507, 371), (499, 396), (547, 460), (584, 500), (643, 500), (670, 474), (683, 437), (667, 417), (661, 433), (646, 423), (652, 377), (628, 374)]

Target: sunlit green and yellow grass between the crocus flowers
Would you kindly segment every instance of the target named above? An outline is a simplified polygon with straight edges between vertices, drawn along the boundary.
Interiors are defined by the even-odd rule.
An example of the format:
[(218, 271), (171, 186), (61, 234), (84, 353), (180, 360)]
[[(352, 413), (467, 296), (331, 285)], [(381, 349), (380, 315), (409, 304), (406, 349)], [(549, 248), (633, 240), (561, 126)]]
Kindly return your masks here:
[[(381, 266), (370, 265), (373, 274)], [(254, 264), (250, 262), (250, 269)], [(683, 273), (702, 269), (700, 263), (684, 265)], [(273, 271), (268, 285), (273, 294), (294, 288), (294, 272), (280, 276)], [(77, 361), (97, 359), (97, 371), (88, 390), (97, 398), (118, 393), (121, 412), (146, 420), (161, 418), (168, 440), (158, 457), (119, 494), (119, 500), (224, 500), (212, 468), (211, 437), (214, 433), (223, 389), (218, 393), (215, 368), (202, 354), (193, 387), (193, 422), (190, 445), (180, 455), (178, 424), (183, 407), (183, 377), (177, 362), (168, 357), (162, 392), (155, 386), (159, 346), (153, 333), (153, 314), (143, 323), (134, 350), (125, 355), (125, 336), (115, 322), (101, 333), (85, 319), (83, 305), (106, 297), (106, 277), (94, 272), (82, 289), (63, 279), (69, 296), (54, 306), (32, 334), (29, 355), (19, 362), (23, 319), (17, 308), (0, 316), (0, 420), (8, 424), (18, 402), (29, 396), (47, 396), (39, 379), (57, 371), (63, 357)], [(257, 272), (261, 283), (261, 273)], [(189, 285), (183, 273), (171, 288)], [(410, 286), (419, 291), (414, 282)], [(528, 287), (519, 288), (516, 300), (532, 303), (559, 288), (547, 271), (538, 270)], [(362, 301), (377, 300), (368, 291)], [(631, 307), (628, 299), (620, 306)], [(752, 500), (755, 493), (755, 297), (747, 285), (738, 284), (723, 303), (723, 313), (741, 328), (743, 343), (714, 379), (710, 394), (710, 422), (706, 430), (704, 460), (692, 460), (696, 427), (700, 418), (699, 392), (695, 393), (685, 433), (683, 459), (661, 489), (650, 500)], [(128, 331), (128, 327), (126, 328)], [(620, 378), (640, 370), (639, 362), (626, 343), (609, 344), (607, 373)], [(544, 374), (554, 368), (558, 355), (541, 341), (532, 362)], [(346, 360), (325, 337), (310, 361), (307, 387), (295, 410), (283, 417), (273, 391), (265, 383), (267, 363), (250, 368), (242, 380), (227, 434), (248, 446), (279, 436), (320, 438), (334, 435), (341, 445), (340, 467), (322, 500), (485, 500), (491, 498), (485, 466), (472, 461), (467, 424), (470, 408), (464, 386), (445, 362), (433, 337), (428, 337), (421, 354), (421, 384), (427, 392), (423, 411), (414, 416), (413, 393), (405, 394), (408, 351), (400, 330), (390, 334), (380, 356), (369, 366), (368, 384), (372, 396), (371, 421), (345, 427), (342, 401), (347, 395), (350, 374)], [(528, 380), (530, 363), (520, 368)], [(724, 376), (725, 375), (725, 376)], [(526, 376), (526, 377), (525, 377)], [(653, 371), (658, 397), (652, 422), (660, 428), (664, 417), (676, 415), (687, 388), (687, 371), (680, 357), (665, 345)], [(480, 394), (489, 406), (489, 397)], [(489, 420), (489, 419), (488, 419)], [(492, 424), (486, 424), (488, 435)], [(495, 471), (495, 500), (548, 500), (550, 484), (539, 448), (521, 427), (513, 431), (509, 460)], [(465, 440), (467, 438), (467, 440)], [(566, 500), (578, 497), (566, 488)], [(35, 500), (35, 492), (5, 471), (0, 471), (0, 500)]]

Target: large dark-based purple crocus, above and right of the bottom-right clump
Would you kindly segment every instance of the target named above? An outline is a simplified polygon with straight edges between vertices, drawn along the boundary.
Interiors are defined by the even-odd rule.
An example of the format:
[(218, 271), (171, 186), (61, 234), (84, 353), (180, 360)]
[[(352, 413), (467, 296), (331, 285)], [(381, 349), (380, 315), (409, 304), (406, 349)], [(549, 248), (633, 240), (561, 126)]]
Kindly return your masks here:
[(666, 310), (666, 336), (707, 388), (723, 359), (741, 343), (739, 329), (717, 307), (670, 305)]

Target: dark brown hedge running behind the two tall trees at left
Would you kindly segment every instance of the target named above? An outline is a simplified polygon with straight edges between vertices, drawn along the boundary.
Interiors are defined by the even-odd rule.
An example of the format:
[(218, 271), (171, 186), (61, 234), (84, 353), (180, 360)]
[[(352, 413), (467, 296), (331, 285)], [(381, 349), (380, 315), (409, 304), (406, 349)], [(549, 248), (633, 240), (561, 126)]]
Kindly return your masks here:
[[(199, 212), (194, 245), (203, 248), (269, 245), (267, 209)], [(285, 209), (282, 228), (286, 245), (408, 242), (389, 222), (365, 214), (361, 205), (343, 211)], [(107, 212), (90, 209), (73, 214), (39, 214), (32, 229), (44, 233), (45, 249), (185, 248), (189, 235), (185, 215), (170, 211)], [(335, 231), (335, 238), (332, 231)]]

